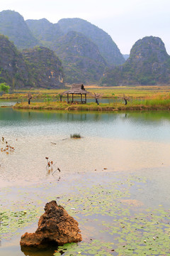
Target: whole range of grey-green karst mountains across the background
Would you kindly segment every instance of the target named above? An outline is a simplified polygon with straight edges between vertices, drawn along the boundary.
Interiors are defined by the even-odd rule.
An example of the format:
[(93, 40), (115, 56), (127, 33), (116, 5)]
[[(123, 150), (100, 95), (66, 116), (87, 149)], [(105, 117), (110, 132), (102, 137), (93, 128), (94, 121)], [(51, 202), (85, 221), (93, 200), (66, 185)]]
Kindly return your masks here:
[[(8, 46), (10, 49), (8, 54), (2, 46), (2, 55), (4, 56), (5, 53), (7, 55), (6, 60), (4, 57), (1, 58), (0, 68), (3, 68), (2, 75), (6, 76), (6, 81), (10, 85), (16, 85), (17, 81), (17, 86), (21, 87), (28, 86), (28, 84), (32, 86), (36, 84), (40, 87), (59, 86), (62, 85), (64, 73), (64, 80), (69, 83), (90, 83), (99, 80), (101, 85), (108, 86), (169, 83), (169, 55), (166, 53), (162, 40), (154, 36), (137, 41), (130, 51), (129, 58), (125, 56), (127, 58), (125, 61), (120, 50), (106, 32), (80, 18), (64, 18), (53, 24), (45, 18), (24, 21), (23, 17), (15, 11), (2, 11), (0, 13), (0, 33), (4, 33), (10, 40), (13, 40), (20, 50), (38, 46), (36, 53), (34, 50), (24, 50), (30, 56), (29, 60), (26, 60), (24, 54), (22, 55), (23, 60), (21, 53), (17, 52), (16, 48), (14, 50), (14, 46)], [(29, 72), (25, 74), (26, 69), (33, 67), (34, 61), (38, 60), (37, 56), (35, 60), (34, 58), (31, 60), (32, 54), (38, 53), (40, 57), (40, 51), (42, 51), (45, 55), (50, 55), (50, 51), (47, 53), (45, 48), (54, 50), (62, 60), (64, 73), (57, 56), (55, 58), (57, 58), (56, 65), (60, 62), (59, 70), (55, 69), (55, 62), (52, 59), (55, 71), (49, 70), (49, 63), (45, 63), (45, 67), (48, 67), (48, 77), (50, 77), (49, 72), (52, 71), (53, 74), (56, 74), (55, 79), (58, 84), (51, 83), (50, 85), (53, 78), (47, 81), (42, 78), (42, 74), (38, 75), (37, 73), (34, 78), (29, 75)], [(29, 51), (30, 53), (28, 53)], [(19, 55), (20, 57), (18, 57)], [(14, 58), (14, 56), (16, 57)], [(17, 68), (19, 66), (16, 63), (17, 58), (23, 63), (21, 64), (22, 72)], [(38, 63), (39, 60), (40, 63)], [(41, 73), (43, 70), (42, 60), (39, 60), (35, 63), (36, 68), (34, 69)], [(47, 60), (49, 62), (49, 58)], [(30, 61), (29, 65), (26, 65), (27, 61)], [(62, 73), (60, 73), (61, 70)], [(32, 74), (35, 74), (36, 71)], [(47, 75), (47, 73), (45, 74)]]

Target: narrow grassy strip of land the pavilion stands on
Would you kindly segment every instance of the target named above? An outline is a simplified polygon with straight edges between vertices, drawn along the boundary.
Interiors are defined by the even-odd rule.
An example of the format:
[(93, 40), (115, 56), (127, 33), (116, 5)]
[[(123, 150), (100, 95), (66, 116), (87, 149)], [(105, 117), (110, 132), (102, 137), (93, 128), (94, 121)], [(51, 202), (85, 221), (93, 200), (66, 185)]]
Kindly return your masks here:
[(28, 102), (16, 103), (13, 108), (30, 110), (86, 110), (86, 111), (119, 111), (119, 110), (170, 110), (170, 95), (147, 97), (144, 100), (130, 100), (128, 105), (121, 102), (87, 104), (67, 104), (67, 102)]

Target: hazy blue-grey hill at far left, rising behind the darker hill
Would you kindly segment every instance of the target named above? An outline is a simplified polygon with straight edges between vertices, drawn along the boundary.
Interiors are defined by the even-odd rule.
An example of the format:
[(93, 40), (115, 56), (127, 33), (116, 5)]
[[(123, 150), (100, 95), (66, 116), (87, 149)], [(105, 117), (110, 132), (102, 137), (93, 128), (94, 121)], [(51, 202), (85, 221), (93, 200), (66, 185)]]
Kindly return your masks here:
[(8, 36), (18, 49), (33, 48), (39, 44), (30, 32), (23, 16), (16, 11), (0, 12), (0, 33)]

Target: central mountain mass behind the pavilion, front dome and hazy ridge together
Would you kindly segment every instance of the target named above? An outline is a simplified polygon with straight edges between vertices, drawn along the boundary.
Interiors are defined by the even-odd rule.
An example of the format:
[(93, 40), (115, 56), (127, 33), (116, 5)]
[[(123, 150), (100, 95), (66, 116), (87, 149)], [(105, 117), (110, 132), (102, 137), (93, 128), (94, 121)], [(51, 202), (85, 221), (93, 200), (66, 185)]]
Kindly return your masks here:
[(42, 46), (60, 56), (69, 83), (96, 82), (106, 66), (125, 62), (111, 36), (88, 21), (66, 18), (52, 24), (42, 18), (26, 23)]

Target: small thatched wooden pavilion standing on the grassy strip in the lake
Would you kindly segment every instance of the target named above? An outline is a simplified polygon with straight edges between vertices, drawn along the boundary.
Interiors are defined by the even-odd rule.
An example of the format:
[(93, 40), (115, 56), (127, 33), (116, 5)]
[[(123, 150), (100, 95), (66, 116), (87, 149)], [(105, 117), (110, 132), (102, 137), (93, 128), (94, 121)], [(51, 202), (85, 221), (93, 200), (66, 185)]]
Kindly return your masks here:
[[(81, 97), (81, 104), (85, 104), (86, 103), (86, 95), (87, 93), (90, 93), (88, 91), (85, 90), (84, 85), (82, 84), (74, 84), (72, 85), (71, 89), (63, 92), (63, 94), (67, 94), (67, 103), (74, 103), (77, 102), (74, 100), (74, 95), (80, 95)], [(69, 100), (69, 95), (72, 95), (72, 100)], [(83, 95), (84, 95), (84, 100), (83, 100)]]

